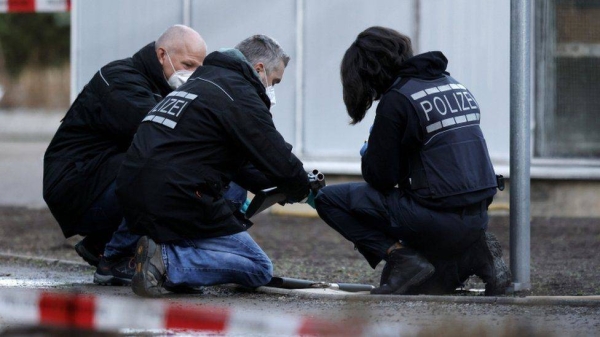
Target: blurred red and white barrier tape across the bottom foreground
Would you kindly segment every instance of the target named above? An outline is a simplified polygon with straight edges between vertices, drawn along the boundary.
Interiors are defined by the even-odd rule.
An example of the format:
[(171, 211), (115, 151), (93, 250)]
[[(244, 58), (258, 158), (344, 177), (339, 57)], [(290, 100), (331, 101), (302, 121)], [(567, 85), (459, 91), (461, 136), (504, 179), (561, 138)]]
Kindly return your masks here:
[(194, 330), (281, 336), (398, 336), (399, 325), (339, 324), (288, 314), (35, 289), (0, 289), (0, 322), (90, 330)]

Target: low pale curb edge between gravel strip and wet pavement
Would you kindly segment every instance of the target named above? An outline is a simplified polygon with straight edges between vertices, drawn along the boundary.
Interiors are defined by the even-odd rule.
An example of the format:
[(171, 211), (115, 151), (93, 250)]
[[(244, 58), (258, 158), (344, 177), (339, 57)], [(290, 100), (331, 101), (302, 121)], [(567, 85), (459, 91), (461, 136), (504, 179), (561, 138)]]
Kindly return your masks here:
[[(45, 262), (68, 267), (82, 267), (82, 269), (93, 269), (86, 263), (49, 259), (37, 256), (28, 256), (0, 252), (0, 260), (20, 259), (29, 262)], [(255, 291), (271, 294), (295, 296), (307, 299), (331, 299), (362, 302), (393, 301), (405, 302), (432, 302), (432, 303), (455, 303), (455, 304), (500, 304), (500, 305), (523, 305), (523, 306), (572, 306), (572, 307), (600, 307), (599, 296), (435, 296), (435, 295), (370, 295), (368, 292), (350, 293), (333, 289), (279, 289), (272, 287), (258, 287)]]

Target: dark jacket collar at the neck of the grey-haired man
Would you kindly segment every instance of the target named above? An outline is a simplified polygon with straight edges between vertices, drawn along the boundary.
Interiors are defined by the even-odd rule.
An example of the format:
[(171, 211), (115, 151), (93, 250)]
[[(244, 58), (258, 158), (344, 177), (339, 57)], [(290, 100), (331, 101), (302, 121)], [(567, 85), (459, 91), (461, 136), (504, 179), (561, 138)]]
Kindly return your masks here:
[(240, 58), (228, 52), (215, 51), (206, 56), (203, 65), (225, 68), (241, 74), (256, 89), (258, 96), (265, 103), (267, 109), (271, 108), (271, 100), (267, 96), (265, 86), (260, 82), (258, 74), (245, 57)]

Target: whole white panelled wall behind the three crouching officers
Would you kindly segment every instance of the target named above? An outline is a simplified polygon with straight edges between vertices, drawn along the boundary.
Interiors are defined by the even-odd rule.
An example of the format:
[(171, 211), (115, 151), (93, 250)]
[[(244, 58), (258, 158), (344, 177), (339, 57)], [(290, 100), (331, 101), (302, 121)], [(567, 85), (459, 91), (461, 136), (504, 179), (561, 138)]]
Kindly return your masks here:
[(75, 0), (72, 98), (99, 67), (131, 56), (173, 24), (200, 32), (209, 52), (266, 34), (291, 56), (276, 86), (276, 126), (307, 169), (359, 174), (358, 151), (375, 107), (362, 123), (349, 125), (339, 65), (358, 33), (387, 26), (409, 35), (416, 52), (446, 54), (448, 71), (481, 105), (492, 160), (507, 174), (509, 11), (507, 1), (478, 0)]

